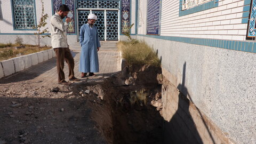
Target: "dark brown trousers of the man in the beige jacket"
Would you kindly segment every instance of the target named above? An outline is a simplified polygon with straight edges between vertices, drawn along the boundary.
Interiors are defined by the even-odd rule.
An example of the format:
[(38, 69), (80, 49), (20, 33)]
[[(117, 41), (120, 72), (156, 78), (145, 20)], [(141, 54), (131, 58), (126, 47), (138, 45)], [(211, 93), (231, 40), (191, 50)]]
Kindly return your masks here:
[(74, 78), (75, 73), (74, 73), (74, 58), (72, 57), (72, 54), (69, 50), (69, 48), (55, 48), (54, 49), (56, 53), (56, 58), (57, 58), (57, 73), (58, 73), (58, 81), (63, 82), (65, 81), (65, 74), (64, 74), (64, 60), (68, 63), (68, 78)]

